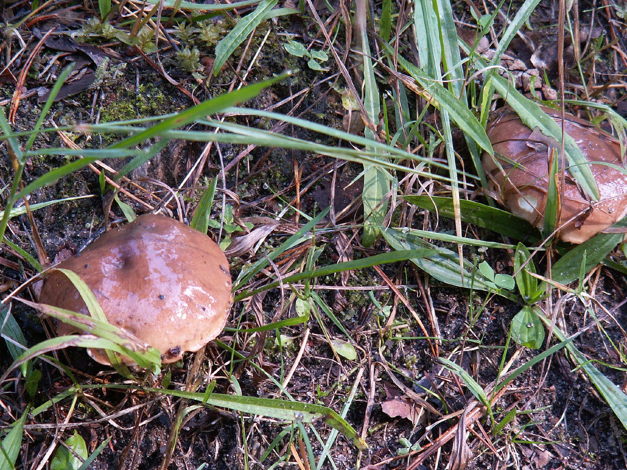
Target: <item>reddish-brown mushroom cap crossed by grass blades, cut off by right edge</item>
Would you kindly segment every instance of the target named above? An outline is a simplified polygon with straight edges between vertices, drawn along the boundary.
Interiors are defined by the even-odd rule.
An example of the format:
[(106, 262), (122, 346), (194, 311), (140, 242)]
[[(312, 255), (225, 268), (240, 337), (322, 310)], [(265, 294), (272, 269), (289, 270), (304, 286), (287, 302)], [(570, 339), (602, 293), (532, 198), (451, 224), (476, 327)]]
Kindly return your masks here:
[[(546, 107), (542, 110), (558, 125), (561, 123), (561, 113)], [(495, 157), (485, 152), (482, 157), (489, 188), (500, 197), (503, 206), (541, 229), (549, 189), (549, 149), (558, 149), (559, 155), (561, 145), (540, 130), (531, 130), (511, 108), (501, 108), (497, 114), (486, 129)], [(587, 161), (623, 166), (620, 143), (609, 133), (570, 113), (564, 113), (564, 130), (579, 145)], [(627, 214), (627, 175), (606, 165), (593, 164), (590, 169), (601, 196), (599, 202), (590, 202), (568, 170), (565, 172), (556, 226), (565, 224), (559, 238), (570, 243), (586, 241)]]

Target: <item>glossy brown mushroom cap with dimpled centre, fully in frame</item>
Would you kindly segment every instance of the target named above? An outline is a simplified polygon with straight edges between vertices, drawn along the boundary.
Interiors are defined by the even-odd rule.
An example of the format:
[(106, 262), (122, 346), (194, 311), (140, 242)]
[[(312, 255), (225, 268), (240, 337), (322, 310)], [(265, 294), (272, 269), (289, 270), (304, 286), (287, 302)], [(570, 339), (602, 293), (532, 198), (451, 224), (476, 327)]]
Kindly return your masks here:
[[(169, 217), (145, 214), (105, 232), (60, 263), (78, 274), (95, 294), (107, 320), (175, 362), (197, 351), (224, 328), (233, 296), (223, 251), (208, 236)], [(52, 271), (40, 302), (89, 315), (65, 274)], [(58, 322), (58, 335), (75, 333)], [(88, 350), (110, 365), (103, 350)], [(129, 358), (122, 358), (130, 363)]]

